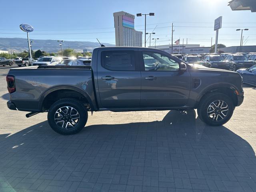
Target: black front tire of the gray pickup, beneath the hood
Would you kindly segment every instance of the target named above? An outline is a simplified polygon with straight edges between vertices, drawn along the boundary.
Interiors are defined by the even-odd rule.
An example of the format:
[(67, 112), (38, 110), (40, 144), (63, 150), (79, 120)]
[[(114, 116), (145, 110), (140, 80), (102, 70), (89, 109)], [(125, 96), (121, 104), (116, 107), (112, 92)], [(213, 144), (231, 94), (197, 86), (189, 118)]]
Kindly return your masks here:
[[(222, 104), (224, 104), (223, 107), (225, 107), (227, 105), (228, 108), (221, 109), (220, 107), (217, 107), (217, 109), (214, 109), (211, 107), (212, 105), (216, 104), (216, 103), (213, 104), (214, 102), (217, 102), (219, 100), (224, 101), (224, 103), (222, 103)], [(218, 104), (218, 102), (217, 102), (217, 104)], [(212, 109), (214, 109), (214, 111), (211, 112)], [(224, 111), (226, 109), (228, 109), (228, 111)], [(206, 124), (208, 124), (210, 126), (220, 126), (220, 125), (225, 124), (226, 122), (228, 122), (228, 120), (230, 120), (233, 112), (234, 112), (234, 104), (233, 104), (231, 98), (222, 93), (206, 94), (200, 100), (200, 104), (197, 109), (198, 117), (200, 118), (200, 120), (202, 120), (203, 122), (205, 122)], [(215, 113), (215, 114), (211, 116), (210, 115), (211, 113)], [(216, 116), (216, 114), (217, 114), (217, 116)], [(213, 116), (214, 116), (214, 118), (216, 117), (217, 120), (216, 119), (214, 120), (214, 118), (212, 119)]]

